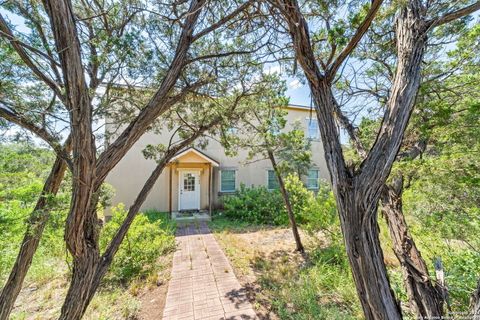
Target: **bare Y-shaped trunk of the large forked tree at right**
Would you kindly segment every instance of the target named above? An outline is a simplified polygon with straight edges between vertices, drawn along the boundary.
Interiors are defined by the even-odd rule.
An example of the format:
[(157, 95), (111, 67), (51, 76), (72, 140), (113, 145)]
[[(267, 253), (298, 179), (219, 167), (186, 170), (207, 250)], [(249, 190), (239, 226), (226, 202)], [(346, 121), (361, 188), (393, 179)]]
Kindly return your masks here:
[(297, 1), (276, 2), (288, 23), (296, 59), (312, 92), (346, 250), (365, 317), (401, 319), (378, 239), (377, 209), (420, 85), (421, 62), (427, 43), (422, 5), (410, 0), (397, 17), (398, 63), (387, 110), (375, 143), (360, 168), (353, 172), (345, 164), (335, 123), (336, 102), (330, 81), (334, 75), (320, 72), (308, 26)]

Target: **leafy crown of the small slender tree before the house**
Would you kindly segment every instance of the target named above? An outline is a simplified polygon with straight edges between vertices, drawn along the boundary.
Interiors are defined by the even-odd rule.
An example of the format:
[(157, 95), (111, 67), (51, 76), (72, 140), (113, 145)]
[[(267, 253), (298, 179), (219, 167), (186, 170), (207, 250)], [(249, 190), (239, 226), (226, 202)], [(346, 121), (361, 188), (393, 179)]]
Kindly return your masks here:
[[(244, 101), (242, 117), (228, 122), (229, 127), (221, 132), (221, 142), (228, 155), (245, 149), (247, 161), (258, 161), (269, 159), (271, 152), (282, 175), (304, 174), (311, 163), (310, 141), (305, 139), (299, 122), (287, 125), (285, 84), (277, 75), (263, 75), (262, 79), (267, 86), (261, 88), (261, 95)], [(233, 127), (235, 130), (228, 130)]]

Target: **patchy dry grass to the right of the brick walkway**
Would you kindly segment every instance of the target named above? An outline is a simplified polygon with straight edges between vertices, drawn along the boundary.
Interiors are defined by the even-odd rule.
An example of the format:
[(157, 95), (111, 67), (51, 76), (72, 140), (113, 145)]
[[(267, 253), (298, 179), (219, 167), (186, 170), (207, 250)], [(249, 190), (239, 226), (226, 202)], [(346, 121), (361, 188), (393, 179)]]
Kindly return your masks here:
[[(295, 251), (293, 235), (288, 228), (247, 226), (225, 221), (214, 221), (211, 228), (262, 318), (354, 318), (348, 305), (349, 300), (356, 299), (354, 292), (353, 295), (351, 290), (337, 294), (332, 287), (322, 294), (321, 285), (325, 284), (309, 281), (309, 277), (316, 278), (315, 272), (319, 267), (309, 260), (308, 253), (328, 245), (321, 234), (301, 233), (307, 248), (307, 255), (302, 256)], [(329, 276), (336, 278), (335, 272)], [(343, 277), (338, 279), (340, 282), (344, 280)], [(316, 308), (331, 311), (316, 314)]]

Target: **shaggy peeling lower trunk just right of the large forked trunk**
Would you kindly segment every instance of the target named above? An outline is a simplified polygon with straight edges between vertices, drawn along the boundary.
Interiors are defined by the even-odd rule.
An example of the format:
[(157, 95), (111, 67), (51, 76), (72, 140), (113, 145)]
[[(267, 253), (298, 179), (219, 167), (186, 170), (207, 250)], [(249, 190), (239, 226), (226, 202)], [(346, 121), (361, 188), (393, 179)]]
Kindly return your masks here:
[(410, 306), (419, 318), (436, 319), (443, 315), (443, 288), (434, 285), (425, 260), (408, 231), (402, 210), (401, 177), (382, 192), (382, 213), (387, 221), (393, 251), (400, 261)]

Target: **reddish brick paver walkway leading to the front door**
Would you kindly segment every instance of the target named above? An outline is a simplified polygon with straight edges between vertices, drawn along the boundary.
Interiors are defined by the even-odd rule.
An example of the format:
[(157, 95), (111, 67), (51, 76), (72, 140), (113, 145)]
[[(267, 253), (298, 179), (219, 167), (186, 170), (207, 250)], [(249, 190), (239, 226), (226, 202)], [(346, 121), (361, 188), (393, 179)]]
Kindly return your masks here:
[(205, 223), (177, 231), (164, 320), (258, 319)]

